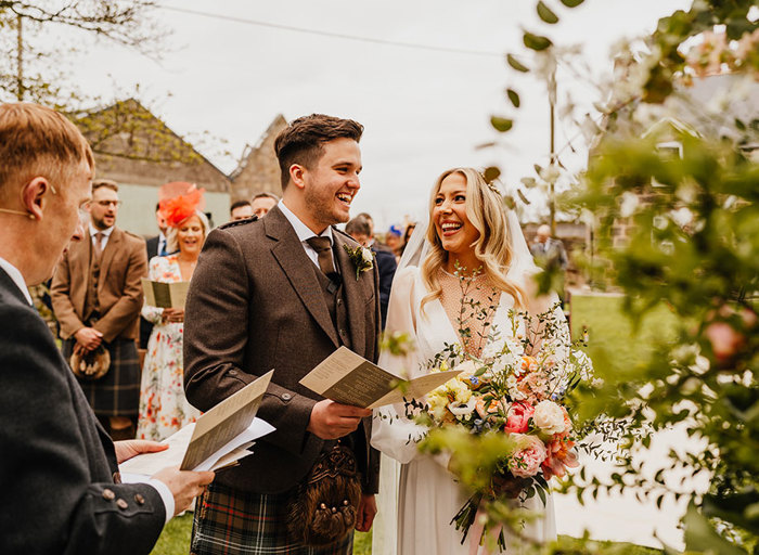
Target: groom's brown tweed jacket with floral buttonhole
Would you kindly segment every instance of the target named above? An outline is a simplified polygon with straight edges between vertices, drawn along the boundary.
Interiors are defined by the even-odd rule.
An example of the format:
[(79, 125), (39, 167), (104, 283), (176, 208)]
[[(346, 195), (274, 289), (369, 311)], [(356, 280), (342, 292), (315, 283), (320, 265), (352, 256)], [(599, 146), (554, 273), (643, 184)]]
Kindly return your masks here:
[[(380, 296), (376, 268), (356, 268), (333, 230), (335, 263), (343, 275), (350, 346), (376, 361)], [(256, 442), (254, 454), (219, 473), (226, 486), (257, 493), (286, 491), (313, 466), (325, 442), (308, 433), (311, 409), (321, 397), (298, 384), (342, 344), (324, 293), (298, 236), (274, 207), (260, 220), (222, 225), (208, 234), (185, 306), (184, 388), (190, 402), (207, 411), (274, 370), (258, 415), (276, 431)], [(371, 418), (359, 433), (357, 452), (365, 493), (377, 490), (377, 452), (369, 448)]]

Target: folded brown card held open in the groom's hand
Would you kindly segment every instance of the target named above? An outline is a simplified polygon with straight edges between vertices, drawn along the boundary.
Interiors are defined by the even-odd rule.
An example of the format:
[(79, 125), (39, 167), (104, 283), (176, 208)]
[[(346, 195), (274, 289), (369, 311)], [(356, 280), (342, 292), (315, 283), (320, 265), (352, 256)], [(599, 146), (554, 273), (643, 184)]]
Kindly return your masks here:
[[(404, 382), (402, 377), (372, 364), (346, 347), (340, 347), (309, 372), (300, 385), (342, 404), (377, 409), (386, 404), (420, 399), (460, 374), (437, 372)], [(404, 383), (404, 387), (399, 387)]]

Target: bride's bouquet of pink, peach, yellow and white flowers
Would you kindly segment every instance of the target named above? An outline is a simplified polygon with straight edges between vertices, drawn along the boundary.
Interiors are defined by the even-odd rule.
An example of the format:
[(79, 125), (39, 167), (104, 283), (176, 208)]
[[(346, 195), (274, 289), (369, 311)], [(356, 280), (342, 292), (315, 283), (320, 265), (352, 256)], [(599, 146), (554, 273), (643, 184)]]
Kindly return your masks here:
[[(433, 430), (466, 433), (466, 441), (458, 443), (459, 451), (486, 449), (488, 441), (491, 447), (497, 441), (494, 464), (475, 469), (484, 475), (480, 487), (452, 520), (464, 532), (462, 543), (484, 501), (525, 500), (537, 494), (545, 503), (548, 481), (578, 466), (573, 448), (580, 438), (567, 395), (591, 379), (590, 359), (573, 348), (558, 306), (536, 318), (511, 311), (509, 320), (507, 337), (500, 338), (499, 331), (490, 330), (479, 357), (465, 353), (460, 345), (446, 346), (427, 362), (427, 370), (460, 370), (461, 374), (428, 393), (426, 403), (411, 402), (419, 423)], [(473, 444), (473, 439), (480, 443)], [(448, 444), (442, 446), (425, 440), (422, 449), (451, 451), (449, 468), (456, 473), (460, 453), (454, 436), (448, 436)], [(502, 532), (498, 535), (504, 548)]]

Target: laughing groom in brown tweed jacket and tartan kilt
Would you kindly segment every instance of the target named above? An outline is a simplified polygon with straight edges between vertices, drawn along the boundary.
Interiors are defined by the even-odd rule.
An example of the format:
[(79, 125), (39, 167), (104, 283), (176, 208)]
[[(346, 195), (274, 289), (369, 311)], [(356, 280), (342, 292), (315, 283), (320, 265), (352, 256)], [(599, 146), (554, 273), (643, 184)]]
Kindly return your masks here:
[(348, 221), (360, 188), (362, 131), (318, 114), (293, 121), (274, 145), (282, 201), (266, 218), (222, 225), (205, 243), (185, 307), (188, 399), (207, 411), (273, 369), (259, 415), (276, 431), (203, 496), (193, 554), (351, 553), (352, 532), (318, 550), (287, 534), (298, 485), (338, 439), (361, 472), (356, 528), (372, 526), (380, 467), (369, 444), (371, 411), (298, 384), (340, 346), (372, 361), (378, 354), (376, 269), (357, 279), (345, 249), (357, 244), (332, 227)]

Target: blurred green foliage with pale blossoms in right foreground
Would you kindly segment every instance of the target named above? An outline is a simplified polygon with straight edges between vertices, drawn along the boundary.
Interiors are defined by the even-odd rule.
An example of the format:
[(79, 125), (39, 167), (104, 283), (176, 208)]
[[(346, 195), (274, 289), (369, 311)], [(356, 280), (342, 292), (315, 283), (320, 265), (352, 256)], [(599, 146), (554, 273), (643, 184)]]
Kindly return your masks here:
[[(556, 8), (537, 2), (549, 25), (559, 20)], [(575, 473), (564, 488), (686, 500), (686, 553), (759, 553), (758, 17), (757, 0), (695, 0), (661, 18), (645, 49), (618, 56), (619, 73), (596, 106), (603, 121), (588, 170), (556, 198), (592, 225), (593, 274), (623, 294), (632, 324), (667, 312), (666, 334), (591, 351), (603, 384), (573, 392), (576, 425), (622, 423), (617, 467), (606, 482)], [(525, 31), (524, 44), (526, 55), (507, 56), (517, 74), (556, 66), (561, 52), (549, 37)], [(689, 88), (709, 90), (715, 76), (729, 86), (694, 102)], [(555, 96), (554, 73), (548, 90)], [(507, 92), (518, 108), (518, 94)], [(747, 109), (736, 109), (746, 99)], [(506, 133), (511, 121), (492, 124)], [(557, 158), (551, 165), (559, 171)], [(486, 177), (499, 173), (489, 168)], [(641, 472), (653, 434), (676, 425), (699, 447), (672, 449), (659, 472)]]

